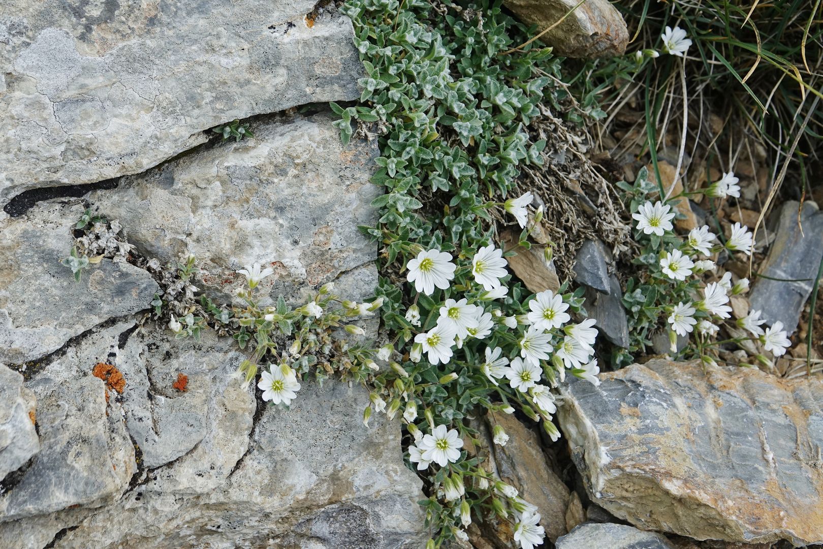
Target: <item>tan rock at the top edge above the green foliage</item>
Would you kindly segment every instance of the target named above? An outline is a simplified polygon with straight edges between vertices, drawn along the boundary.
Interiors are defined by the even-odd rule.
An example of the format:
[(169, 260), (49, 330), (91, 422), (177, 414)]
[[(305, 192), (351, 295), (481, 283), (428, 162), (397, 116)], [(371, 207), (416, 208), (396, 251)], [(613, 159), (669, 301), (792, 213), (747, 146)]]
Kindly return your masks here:
[[(577, 6), (576, 0), (505, 0), (519, 19), (542, 31)], [(541, 40), (558, 55), (598, 58), (625, 54), (629, 31), (620, 12), (608, 0), (586, 0)]]

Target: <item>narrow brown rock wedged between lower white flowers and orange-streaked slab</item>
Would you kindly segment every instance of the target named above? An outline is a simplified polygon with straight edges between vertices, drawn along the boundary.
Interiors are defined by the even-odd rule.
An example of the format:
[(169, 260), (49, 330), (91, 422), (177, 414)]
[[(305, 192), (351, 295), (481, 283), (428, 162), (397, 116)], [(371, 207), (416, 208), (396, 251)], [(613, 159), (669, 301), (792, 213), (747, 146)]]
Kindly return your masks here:
[(546, 537), (554, 542), (566, 533), (569, 488), (551, 470), (540, 439), (516, 417), (495, 414), (489, 417), (489, 424), (490, 429), (495, 425), (503, 427), (509, 435), (505, 446), (494, 445), (500, 478), (516, 487), (524, 500), (537, 505)]

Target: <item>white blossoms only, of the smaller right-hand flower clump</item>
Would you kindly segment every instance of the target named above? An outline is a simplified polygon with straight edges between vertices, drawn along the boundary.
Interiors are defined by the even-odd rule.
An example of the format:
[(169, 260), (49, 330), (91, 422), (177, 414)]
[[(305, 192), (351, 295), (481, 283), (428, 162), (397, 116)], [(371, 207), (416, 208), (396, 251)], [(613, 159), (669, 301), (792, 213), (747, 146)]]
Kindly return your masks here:
[[(723, 174), (723, 178), (712, 184), (710, 188), (714, 190), (709, 196), (716, 197), (739, 197), (740, 187), (737, 185), (738, 179), (733, 172)], [(663, 202), (645, 202), (639, 205), (638, 211), (632, 214), (637, 221), (637, 229), (646, 235), (663, 236), (673, 230), (672, 219), (675, 212), (672, 207)], [(714, 271), (716, 265), (709, 256), (727, 249), (729, 252), (742, 252), (751, 255), (752, 235), (748, 227), (735, 223), (731, 227), (731, 235), (725, 244), (719, 244), (717, 235), (709, 230), (709, 226), (692, 229), (686, 240), (676, 249), (661, 252), (660, 270), (665, 277), (674, 283), (684, 282), (687, 278), (704, 274), (704, 272)], [(704, 258), (700, 258), (703, 256)], [(730, 318), (732, 312), (729, 303), (729, 295), (739, 295), (749, 289), (749, 281), (742, 278), (732, 285), (732, 273), (726, 272), (723, 277), (714, 282), (706, 284), (702, 288), (702, 296), (694, 295), (693, 300), (678, 302), (668, 310), (667, 321), (671, 327), (670, 340), (672, 351), (677, 349), (677, 338), (675, 335), (686, 336), (688, 333), (697, 331), (701, 336), (711, 337), (718, 332), (718, 324)], [(763, 330), (760, 324), (765, 323), (765, 319), (760, 319), (760, 311), (751, 311), (744, 319), (737, 320), (737, 325), (745, 328), (752, 336), (759, 339), (766, 351), (771, 351), (774, 356), (781, 356), (786, 352), (790, 342), (783, 330), (783, 324), (775, 322), (774, 326)]]

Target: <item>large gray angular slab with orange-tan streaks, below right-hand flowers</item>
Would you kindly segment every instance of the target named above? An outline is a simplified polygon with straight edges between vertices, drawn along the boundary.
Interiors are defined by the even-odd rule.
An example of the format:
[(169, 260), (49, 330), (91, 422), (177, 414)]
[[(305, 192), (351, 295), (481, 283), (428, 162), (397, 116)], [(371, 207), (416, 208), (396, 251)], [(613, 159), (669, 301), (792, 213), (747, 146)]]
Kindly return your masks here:
[(559, 409), (597, 505), (700, 540), (823, 542), (823, 380), (660, 360), (599, 377)]

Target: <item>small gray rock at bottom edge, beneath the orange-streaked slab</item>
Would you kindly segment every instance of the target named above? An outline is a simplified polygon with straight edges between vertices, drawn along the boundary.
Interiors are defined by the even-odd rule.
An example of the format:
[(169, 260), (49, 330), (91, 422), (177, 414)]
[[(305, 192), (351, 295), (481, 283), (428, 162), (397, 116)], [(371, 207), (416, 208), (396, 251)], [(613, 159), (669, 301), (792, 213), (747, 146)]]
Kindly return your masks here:
[(585, 523), (557, 540), (557, 549), (675, 549), (666, 537), (634, 526)]

